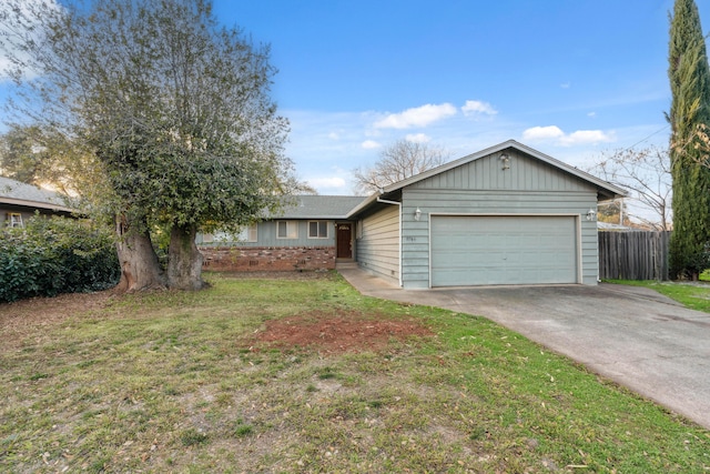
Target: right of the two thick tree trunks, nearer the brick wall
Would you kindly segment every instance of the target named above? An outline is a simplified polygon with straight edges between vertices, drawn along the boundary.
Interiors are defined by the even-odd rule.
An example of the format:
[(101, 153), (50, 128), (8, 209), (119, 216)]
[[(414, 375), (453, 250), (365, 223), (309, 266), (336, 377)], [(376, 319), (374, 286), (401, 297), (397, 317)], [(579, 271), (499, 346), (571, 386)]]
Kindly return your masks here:
[(173, 226), (168, 250), (168, 285), (178, 290), (202, 290), (202, 253), (195, 244), (194, 226)]

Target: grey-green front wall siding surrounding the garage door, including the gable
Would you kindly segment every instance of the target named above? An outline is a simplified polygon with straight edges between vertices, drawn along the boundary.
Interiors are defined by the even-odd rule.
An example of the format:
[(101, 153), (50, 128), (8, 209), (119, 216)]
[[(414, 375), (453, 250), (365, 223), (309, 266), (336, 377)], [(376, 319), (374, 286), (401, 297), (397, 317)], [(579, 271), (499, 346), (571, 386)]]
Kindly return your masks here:
[[(498, 154), (484, 157), (403, 189), (402, 274), (405, 289), (429, 282), (430, 214), (569, 215), (578, 223), (579, 283), (598, 280), (597, 223), (586, 214), (597, 209), (597, 190), (557, 168), (507, 150), (509, 169)], [(419, 221), (414, 218), (419, 209)]]

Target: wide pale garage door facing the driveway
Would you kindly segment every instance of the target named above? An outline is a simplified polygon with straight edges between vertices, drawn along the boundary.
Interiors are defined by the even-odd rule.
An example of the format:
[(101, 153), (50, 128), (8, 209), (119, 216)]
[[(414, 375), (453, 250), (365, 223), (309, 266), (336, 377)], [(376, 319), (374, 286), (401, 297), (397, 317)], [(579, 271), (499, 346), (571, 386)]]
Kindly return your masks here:
[(432, 216), (432, 286), (577, 283), (572, 216)]

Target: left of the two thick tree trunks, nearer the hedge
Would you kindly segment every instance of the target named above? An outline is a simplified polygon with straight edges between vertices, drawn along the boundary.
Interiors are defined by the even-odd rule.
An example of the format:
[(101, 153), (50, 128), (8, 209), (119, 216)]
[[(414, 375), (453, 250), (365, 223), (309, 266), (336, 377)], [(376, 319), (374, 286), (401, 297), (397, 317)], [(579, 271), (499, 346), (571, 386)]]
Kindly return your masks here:
[(164, 289), (166, 281), (153, 250), (148, 231), (141, 233), (125, 232), (125, 224), (116, 222), (119, 242), (119, 262), (121, 263), (121, 281), (119, 290), (134, 292), (141, 290)]

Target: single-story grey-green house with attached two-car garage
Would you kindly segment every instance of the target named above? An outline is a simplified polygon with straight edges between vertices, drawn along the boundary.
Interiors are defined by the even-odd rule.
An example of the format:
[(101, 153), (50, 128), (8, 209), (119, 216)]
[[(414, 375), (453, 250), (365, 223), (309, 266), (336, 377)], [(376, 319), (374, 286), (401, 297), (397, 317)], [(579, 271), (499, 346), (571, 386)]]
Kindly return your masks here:
[[(307, 259), (323, 268), (352, 260), (405, 289), (596, 284), (597, 203), (625, 194), (509, 140), (368, 198), (298, 196), (297, 205), (236, 242), (231, 259), (248, 262), (243, 269), (267, 268), (258, 255), (242, 254), (256, 248), (271, 252), (272, 261), (274, 254), (286, 260), (286, 251), (304, 252), (300, 264), (271, 264), (278, 270), (305, 269)], [(317, 258), (308, 253), (316, 242)], [(207, 268), (224, 261), (205, 251)]]

